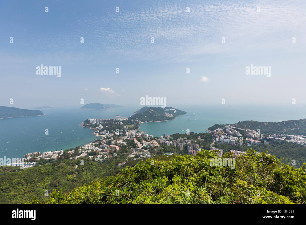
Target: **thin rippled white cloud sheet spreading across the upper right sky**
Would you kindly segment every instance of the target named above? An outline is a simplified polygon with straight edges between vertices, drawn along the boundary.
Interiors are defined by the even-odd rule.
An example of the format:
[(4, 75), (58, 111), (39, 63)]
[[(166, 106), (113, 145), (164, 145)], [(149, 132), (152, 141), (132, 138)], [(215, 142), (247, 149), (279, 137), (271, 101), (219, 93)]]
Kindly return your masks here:
[[(190, 13), (186, 12), (185, 6), (190, 7)], [(260, 12), (257, 12), (257, 6), (261, 6)], [(103, 51), (106, 58), (116, 54), (121, 58), (152, 60), (154, 55), (154, 59), (164, 60), (167, 57), (181, 62), (182, 58), (184, 61), (192, 60), (199, 54), (239, 54), (236, 52), (240, 48), (243, 51), (245, 48), (254, 51), (254, 47), (263, 50), (284, 48), (288, 40), (277, 37), (288, 33), (305, 35), (305, 29), (297, 29), (303, 27), (306, 18), (298, 2), (238, 0), (226, 4), (203, 4), (203, 1), (194, 1), (188, 5), (153, 4), (139, 7), (122, 12), (120, 17), (116, 13), (109, 13), (96, 18), (87, 17), (86, 22), (83, 19), (78, 21), (80, 28), (96, 36), (96, 39), (107, 37), (103, 39), (107, 47), (97, 45), (92, 51), (99, 54)], [(120, 24), (126, 29), (105, 29), (103, 24), (106, 22), (111, 24), (110, 27)], [(148, 26), (148, 22), (154, 25)], [(120, 39), (113, 38), (117, 32), (120, 32)], [(150, 37), (155, 37), (155, 44), (151, 44)], [(226, 43), (221, 43), (222, 37), (225, 37)], [(139, 44), (133, 45), (131, 40)], [(118, 45), (122, 47), (118, 48)], [(288, 51), (299, 49), (291, 45)], [(146, 55), (147, 51), (152, 54)]]

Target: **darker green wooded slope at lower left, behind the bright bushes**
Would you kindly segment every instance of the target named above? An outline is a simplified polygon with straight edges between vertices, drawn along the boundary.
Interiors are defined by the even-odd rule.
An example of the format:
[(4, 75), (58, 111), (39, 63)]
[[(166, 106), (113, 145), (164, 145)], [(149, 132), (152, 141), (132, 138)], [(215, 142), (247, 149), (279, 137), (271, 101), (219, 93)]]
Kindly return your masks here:
[[(107, 159), (105, 163), (93, 162), (88, 158), (58, 159), (50, 162), (40, 159), (38, 161), (42, 160), (41, 166), (25, 169), (0, 167), (0, 204), (21, 204), (33, 198), (43, 201), (47, 198), (46, 190), (51, 193), (56, 188), (66, 193), (95, 179), (120, 174), (120, 167), (117, 164), (125, 158), (126, 156), (117, 156)], [(84, 160), (84, 165), (81, 165), (81, 159)], [(123, 167), (133, 167), (140, 160), (127, 161)], [(44, 164), (46, 161), (47, 164)]]

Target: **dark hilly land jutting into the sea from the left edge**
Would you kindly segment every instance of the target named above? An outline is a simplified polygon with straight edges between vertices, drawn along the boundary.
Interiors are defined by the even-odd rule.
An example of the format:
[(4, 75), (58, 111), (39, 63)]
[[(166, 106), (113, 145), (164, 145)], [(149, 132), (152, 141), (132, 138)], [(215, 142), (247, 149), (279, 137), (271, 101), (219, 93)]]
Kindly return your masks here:
[(31, 109), (19, 109), (15, 107), (0, 106), (0, 119), (24, 117), (24, 116), (42, 116), (42, 111)]

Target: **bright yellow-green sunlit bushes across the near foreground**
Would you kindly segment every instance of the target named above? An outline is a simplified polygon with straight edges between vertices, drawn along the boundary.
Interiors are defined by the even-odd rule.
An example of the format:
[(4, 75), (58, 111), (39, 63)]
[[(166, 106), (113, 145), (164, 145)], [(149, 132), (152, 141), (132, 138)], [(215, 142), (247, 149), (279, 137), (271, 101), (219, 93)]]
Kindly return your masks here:
[[(151, 159), (122, 174), (96, 180), (63, 194), (54, 191), (47, 204), (292, 204), (306, 203), (305, 165), (296, 169), (267, 153), (236, 158), (235, 168), (211, 167), (216, 152)], [(223, 158), (229, 158), (225, 153)], [(117, 193), (117, 195), (116, 195)], [(38, 200), (32, 203), (41, 203)]]

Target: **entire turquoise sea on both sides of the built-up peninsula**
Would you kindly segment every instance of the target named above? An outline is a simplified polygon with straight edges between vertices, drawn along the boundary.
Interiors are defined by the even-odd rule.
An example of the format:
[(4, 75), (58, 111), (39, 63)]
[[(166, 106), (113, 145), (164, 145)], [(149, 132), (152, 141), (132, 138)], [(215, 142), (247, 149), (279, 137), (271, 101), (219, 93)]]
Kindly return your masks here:
[[(153, 137), (165, 134), (206, 132), (216, 123), (235, 123), (244, 120), (279, 122), (306, 118), (306, 107), (284, 106), (186, 106), (171, 105), (187, 114), (164, 122), (141, 123), (140, 130)], [(141, 107), (120, 107), (107, 110), (79, 108), (43, 109), (43, 116), (0, 119), (0, 158), (20, 158), (25, 153), (65, 150), (88, 144), (95, 139), (95, 130), (84, 128), (87, 118), (129, 117)], [(188, 120), (189, 119), (189, 120)], [(49, 135), (45, 135), (45, 129)]]

